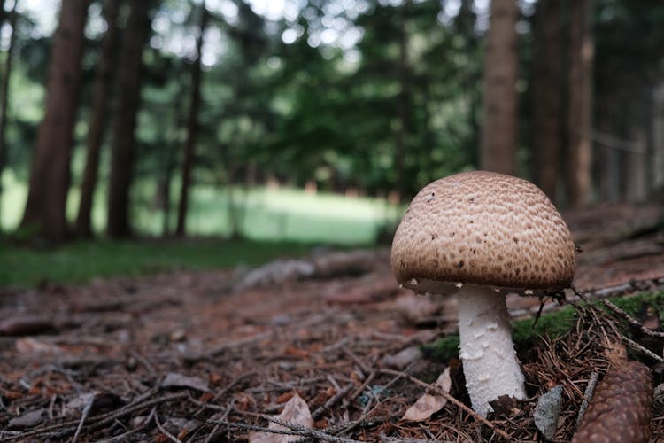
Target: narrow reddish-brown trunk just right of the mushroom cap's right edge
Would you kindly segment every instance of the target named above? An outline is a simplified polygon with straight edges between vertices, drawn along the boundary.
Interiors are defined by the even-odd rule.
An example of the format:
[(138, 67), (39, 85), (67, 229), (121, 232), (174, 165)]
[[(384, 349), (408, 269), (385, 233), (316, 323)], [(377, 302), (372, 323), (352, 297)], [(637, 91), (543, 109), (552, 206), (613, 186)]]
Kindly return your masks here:
[(567, 99), (567, 200), (588, 204), (591, 197), (592, 40), (591, 0), (569, 4), (569, 89)]

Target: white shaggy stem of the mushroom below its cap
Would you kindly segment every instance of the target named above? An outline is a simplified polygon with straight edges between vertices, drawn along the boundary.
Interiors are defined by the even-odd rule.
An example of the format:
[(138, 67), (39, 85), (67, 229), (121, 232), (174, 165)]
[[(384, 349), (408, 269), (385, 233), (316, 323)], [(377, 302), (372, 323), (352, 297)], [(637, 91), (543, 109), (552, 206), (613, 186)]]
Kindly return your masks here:
[(505, 296), (492, 288), (464, 284), (459, 300), (459, 356), (475, 412), (486, 416), (501, 395), (526, 398), (524, 377), (512, 344)]

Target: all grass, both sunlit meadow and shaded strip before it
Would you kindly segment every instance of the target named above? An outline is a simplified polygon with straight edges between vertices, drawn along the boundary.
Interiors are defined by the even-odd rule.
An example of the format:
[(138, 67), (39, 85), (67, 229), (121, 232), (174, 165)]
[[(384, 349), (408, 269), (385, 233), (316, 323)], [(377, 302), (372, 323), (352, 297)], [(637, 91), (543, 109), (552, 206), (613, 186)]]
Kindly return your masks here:
[[(0, 228), (12, 232), (19, 223), (27, 198), (26, 183), (5, 171)], [(104, 189), (100, 186), (93, 210), (94, 229), (104, 232)], [(174, 187), (176, 188), (176, 186)], [(371, 245), (382, 226), (395, 221), (400, 210), (377, 198), (306, 193), (303, 190), (255, 188), (233, 190), (241, 201), (243, 237), (222, 240), (230, 234), (228, 190), (197, 187), (190, 198), (187, 221), (191, 240), (97, 240), (36, 250), (0, 239), (0, 288), (29, 287), (48, 279), (58, 283), (84, 282), (95, 276), (143, 275), (170, 268), (229, 268), (258, 265), (278, 256), (299, 255), (313, 245)], [(174, 189), (174, 195), (177, 195)], [(135, 185), (132, 195), (133, 226), (139, 235), (161, 234), (164, 214), (154, 206), (153, 183)], [(78, 206), (73, 188), (67, 200), (73, 221)], [(177, 206), (172, 205), (173, 211)], [(175, 214), (170, 214), (171, 229)]]

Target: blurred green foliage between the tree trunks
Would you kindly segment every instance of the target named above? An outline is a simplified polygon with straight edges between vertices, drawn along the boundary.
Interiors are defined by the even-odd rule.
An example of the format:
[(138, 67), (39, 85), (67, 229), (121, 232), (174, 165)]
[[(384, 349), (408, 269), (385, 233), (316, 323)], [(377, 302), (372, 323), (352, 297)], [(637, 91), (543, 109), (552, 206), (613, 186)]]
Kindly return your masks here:
[[(664, 57), (660, 3), (595, 2), (598, 98), (611, 93), (632, 101), (643, 95), (635, 91), (659, 82)], [(215, 59), (213, 64), (208, 60), (202, 76), (195, 187), (214, 186), (221, 193), (228, 186), (247, 188), (276, 177), (293, 186), (314, 182), (319, 190), (355, 189), (374, 196), (401, 187), (407, 199), (440, 176), (477, 166), (484, 30), (473, 0), (458, 2), (453, 17), (447, 15), (450, 3), (438, 0), (356, 2), (350, 8), (341, 0), (307, 0), (297, 3), (297, 14), (276, 21), (259, 16), (243, 0), (221, 4), (225, 7), (207, 4), (212, 16), (204, 48)], [(90, 18), (97, 22), (89, 27), (83, 62), (78, 151), (88, 132), (104, 28), (95, 7)], [(189, 43), (198, 33), (200, 7), (193, 0), (155, 3), (153, 35), (143, 54), (135, 165), (135, 176), (147, 177), (155, 193), (173, 188), (176, 196), (179, 190), (193, 58)], [(224, 12), (234, 7), (236, 13)], [(521, 141), (532, 140), (528, 71), (533, 36), (527, 10), (532, 4), (523, 5), (519, 27)], [(123, 11), (120, 25), (126, 19)], [(50, 54), (51, 35), (42, 35), (39, 20), (30, 17), (38, 13), (43, 12), (24, 12), (19, 18), (10, 86), (6, 167), (22, 182), (42, 118)], [(339, 40), (352, 32), (359, 37), (350, 45), (322, 42), (320, 35), (329, 30)], [(285, 43), (286, 32), (297, 37)], [(624, 88), (616, 89), (620, 85)], [(521, 145), (520, 174), (529, 176), (531, 152)], [(80, 183), (80, 164), (73, 165), (74, 187)], [(135, 191), (140, 195), (133, 200), (135, 214), (164, 210), (150, 206), (156, 196), (142, 192)], [(229, 212), (242, 212), (238, 203), (227, 204)]]

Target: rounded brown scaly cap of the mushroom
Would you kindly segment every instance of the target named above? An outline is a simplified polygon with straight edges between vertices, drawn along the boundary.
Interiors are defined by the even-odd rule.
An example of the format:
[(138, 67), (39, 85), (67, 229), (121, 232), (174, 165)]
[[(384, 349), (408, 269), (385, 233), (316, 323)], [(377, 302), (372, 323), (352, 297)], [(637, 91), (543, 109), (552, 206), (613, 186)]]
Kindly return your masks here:
[(400, 284), (419, 291), (424, 282), (554, 291), (572, 282), (575, 244), (534, 184), (462, 172), (413, 198), (392, 242), (391, 267)]

